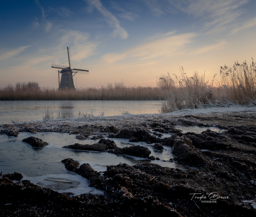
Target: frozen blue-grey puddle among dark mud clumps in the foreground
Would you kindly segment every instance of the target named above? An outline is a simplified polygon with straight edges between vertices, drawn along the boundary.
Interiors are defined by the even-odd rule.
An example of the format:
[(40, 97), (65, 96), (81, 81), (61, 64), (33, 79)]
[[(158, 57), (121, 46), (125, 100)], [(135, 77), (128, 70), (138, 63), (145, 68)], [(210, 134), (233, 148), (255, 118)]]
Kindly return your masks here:
[[(49, 143), (43, 148), (33, 148), (23, 139), (35, 136)], [(106, 138), (107, 139), (107, 138)], [(131, 145), (141, 145), (151, 151), (151, 155), (159, 157), (161, 160), (151, 161), (140, 157), (115, 155), (107, 152), (78, 151), (63, 149), (63, 146), (75, 144), (94, 144), (99, 140), (77, 140), (75, 135), (61, 134), (57, 132), (20, 132), (17, 137), (0, 135), (0, 169), (3, 174), (19, 172), (24, 179), (32, 183), (52, 188), (60, 193), (70, 192), (74, 195), (83, 193), (102, 194), (101, 191), (88, 186), (87, 179), (65, 169), (61, 162), (63, 159), (72, 158), (81, 164), (88, 163), (96, 171), (106, 170), (107, 165), (117, 165), (126, 163), (128, 165), (154, 163), (161, 166), (176, 167), (174, 162), (168, 162), (173, 158), (171, 148), (165, 147), (163, 152), (154, 151), (152, 145), (146, 142), (129, 142), (127, 139), (113, 139), (117, 146), (126, 147)], [(57, 180), (56, 180), (57, 179)]]

